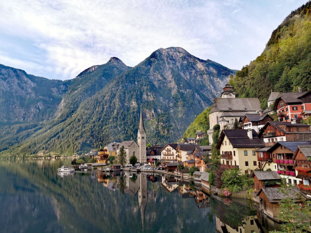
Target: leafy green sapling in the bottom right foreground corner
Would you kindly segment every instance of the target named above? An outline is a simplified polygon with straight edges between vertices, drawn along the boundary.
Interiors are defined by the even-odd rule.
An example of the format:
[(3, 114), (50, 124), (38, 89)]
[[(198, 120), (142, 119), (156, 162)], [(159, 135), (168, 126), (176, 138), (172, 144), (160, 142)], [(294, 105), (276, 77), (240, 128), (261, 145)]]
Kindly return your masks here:
[[(293, 185), (286, 184), (286, 180), (282, 180), (282, 185), (279, 188), (279, 192), (281, 192), (285, 198), (281, 200), (280, 204), (280, 212), (278, 212), (278, 218), (281, 222), (284, 222), (281, 225), (281, 231), (270, 231), (270, 232), (278, 232), (278, 233), (302, 233), (306, 231), (310, 231), (311, 224), (311, 207), (309, 206), (310, 202), (305, 201), (299, 194), (295, 193), (293, 190)], [(296, 203), (295, 199), (293, 199), (292, 195), (295, 194), (297, 198), (304, 200), (303, 205), (304, 208), (301, 208), (300, 203)]]

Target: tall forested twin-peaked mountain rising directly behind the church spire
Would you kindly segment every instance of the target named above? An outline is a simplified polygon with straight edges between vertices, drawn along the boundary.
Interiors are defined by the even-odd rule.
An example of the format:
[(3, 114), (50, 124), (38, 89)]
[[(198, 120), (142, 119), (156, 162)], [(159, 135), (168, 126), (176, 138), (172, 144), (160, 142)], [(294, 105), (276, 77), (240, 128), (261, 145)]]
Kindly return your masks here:
[[(3, 153), (71, 154), (136, 139), (141, 104), (147, 143), (173, 142), (220, 95), (234, 73), (183, 48), (160, 48), (132, 68), (112, 57), (71, 80), (55, 119), (35, 126), (20, 143), (21, 134), (16, 134), (17, 144)], [(22, 135), (28, 134), (26, 129)], [(1, 148), (6, 147), (0, 142)]]

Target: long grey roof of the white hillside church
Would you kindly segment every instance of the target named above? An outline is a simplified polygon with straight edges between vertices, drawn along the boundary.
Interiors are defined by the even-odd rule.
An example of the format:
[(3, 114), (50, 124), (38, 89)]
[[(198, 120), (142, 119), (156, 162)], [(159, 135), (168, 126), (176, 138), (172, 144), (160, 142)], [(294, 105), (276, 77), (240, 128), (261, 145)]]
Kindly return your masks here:
[(210, 113), (218, 111), (262, 112), (262, 109), (258, 98), (215, 98)]

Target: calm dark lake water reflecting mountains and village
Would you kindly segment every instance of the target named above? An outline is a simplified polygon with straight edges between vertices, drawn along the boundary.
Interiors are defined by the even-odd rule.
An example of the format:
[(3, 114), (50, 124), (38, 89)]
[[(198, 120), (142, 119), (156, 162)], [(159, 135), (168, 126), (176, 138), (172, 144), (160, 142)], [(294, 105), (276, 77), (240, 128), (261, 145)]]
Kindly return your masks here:
[(148, 174), (76, 172), (70, 160), (0, 161), (0, 232), (268, 232), (278, 226), (245, 200)]

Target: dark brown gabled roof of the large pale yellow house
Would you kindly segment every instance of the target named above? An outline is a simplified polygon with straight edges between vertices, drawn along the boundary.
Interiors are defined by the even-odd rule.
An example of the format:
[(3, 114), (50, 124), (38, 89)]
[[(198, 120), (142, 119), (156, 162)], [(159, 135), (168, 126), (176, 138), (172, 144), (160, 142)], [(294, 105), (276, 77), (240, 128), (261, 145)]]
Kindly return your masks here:
[(217, 148), (219, 149), (225, 135), (229, 139), (234, 148), (252, 148), (252, 147), (265, 147), (265, 142), (258, 138), (255, 130), (252, 130), (253, 139), (247, 135), (247, 130), (222, 130), (220, 139), (218, 140)]

